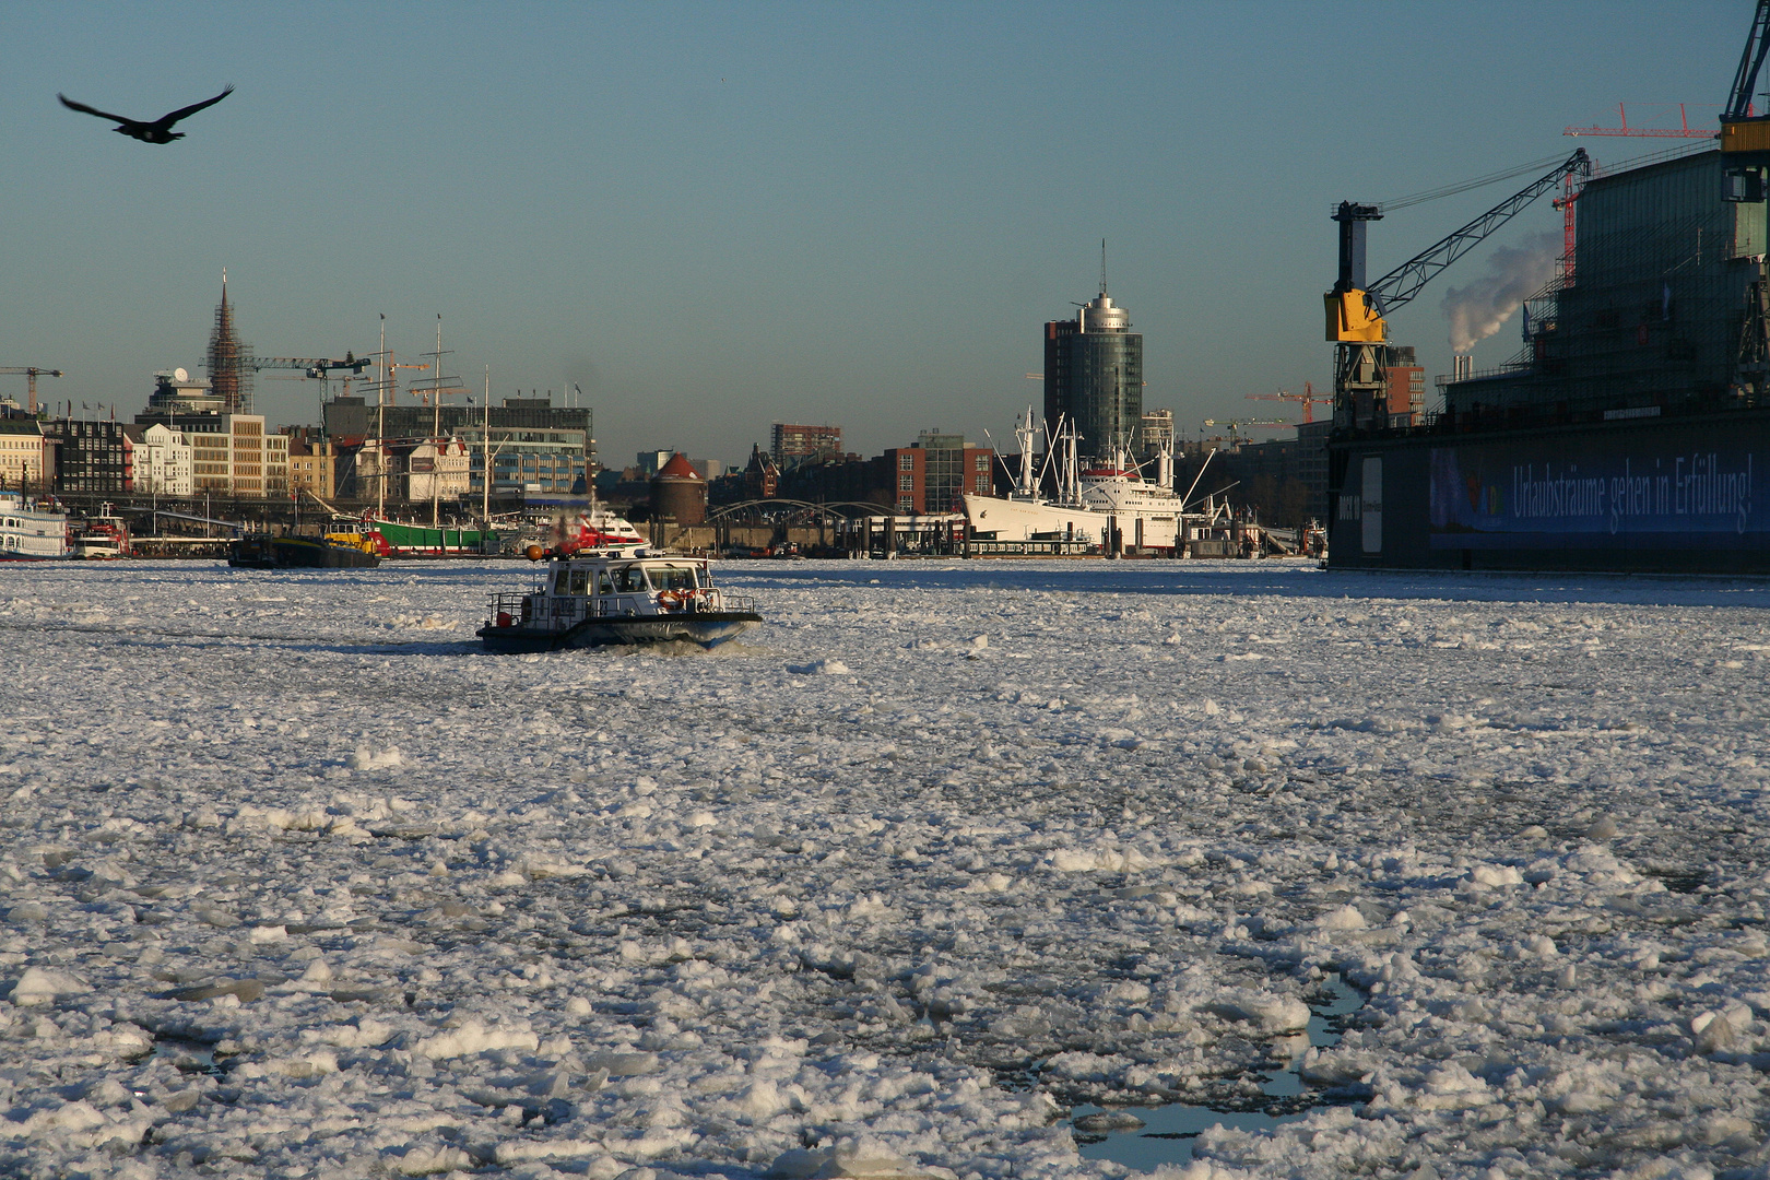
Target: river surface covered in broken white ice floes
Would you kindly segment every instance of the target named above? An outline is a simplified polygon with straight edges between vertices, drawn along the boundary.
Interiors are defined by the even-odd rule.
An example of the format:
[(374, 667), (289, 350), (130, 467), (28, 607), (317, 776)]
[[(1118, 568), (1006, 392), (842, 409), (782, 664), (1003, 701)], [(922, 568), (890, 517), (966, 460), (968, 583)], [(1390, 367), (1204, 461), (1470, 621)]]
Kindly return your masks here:
[(1770, 584), (722, 571), (487, 656), (526, 568), (0, 570), (0, 1173), (1770, 1168)]

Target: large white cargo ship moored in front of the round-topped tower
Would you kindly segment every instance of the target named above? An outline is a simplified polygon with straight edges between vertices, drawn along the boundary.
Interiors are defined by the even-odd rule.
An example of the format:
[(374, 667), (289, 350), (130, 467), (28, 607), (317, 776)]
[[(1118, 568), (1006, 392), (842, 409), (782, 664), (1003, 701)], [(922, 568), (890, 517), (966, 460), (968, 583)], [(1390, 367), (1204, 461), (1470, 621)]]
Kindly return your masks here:
[[(1020, 474), (1005, 499), (965, 497), (972, 540), (1085, 543), (1101, 552), (1184, 552), (1193, 541), (1228, 538), (1232, 520), (1227, 502), (1205, 497), (1188, 511), (1188, 501), (1174, 492), (1172, 448), (1165, 446), (1156, 455), (1156, 478), (1145, 479), (1142, 467), (1129, 460), (1124, 448), (1115, 448), (1108, 460), (1081, 467), (1076, 460), (1074, 426), (1058, 426), (1044, 432), (1048, 439), (1041, 469), (1034, 455), (1037, 433), (1028, 407), (1025, 423), (1014, 428), (1020, 439)], [(1051, 478), (1057, 495), (1048, 497), (1041, 488)], [(1197, 487), (1195, 479), (1193, 488)]]

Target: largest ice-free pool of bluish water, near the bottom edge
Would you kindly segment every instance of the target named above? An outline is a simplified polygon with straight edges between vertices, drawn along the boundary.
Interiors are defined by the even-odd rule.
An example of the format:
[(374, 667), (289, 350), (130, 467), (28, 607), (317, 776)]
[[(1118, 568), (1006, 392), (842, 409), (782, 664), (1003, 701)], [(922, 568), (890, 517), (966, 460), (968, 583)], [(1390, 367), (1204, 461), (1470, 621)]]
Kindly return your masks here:
[[(1310, 1005), (1308, 1038), (1315, 1047), (1338, 1044), (1340, 1033), (1335, 1024), (1365, 1007), (1365, 996), (1345, 984), (1338, 975), (1322, 980), (1322, 991), (1333, 996), (1328, 1003)], [(1296, 1061), (1290, 1067), (1273, 1072), (1260, 1086), (1269, 1099), (1294, 1099), (1303, 1093), (1303, 1079), (1297, 1076)], [(1089, 1115), (1135, 1115), (1143, 1120), (1142, 1127), (1127, 1130), (1085, 1132), (1076, 1130), (1076, 1145), (1085, 1159), (1110, 1159), (1126, 1168), (1150, 1171), (1159, 1164), (1184, 1164), (1193, 1157), (1193, 1141), (1198, 1132), (1211, 1127), (1232, 1127), (1235, 1130), (1271, 1130), (1280, 1123), (1303, 1118), (1303, 1111), (1294, 1115), (1264, 1115), (1258, 1111), (1214, 1111), (1209, 1106), (1188, 1106), (1174, 1102), (1154, 1107), (1112, 1107), (1076, 1106), (1071, 1111), (1071, 1123)]]

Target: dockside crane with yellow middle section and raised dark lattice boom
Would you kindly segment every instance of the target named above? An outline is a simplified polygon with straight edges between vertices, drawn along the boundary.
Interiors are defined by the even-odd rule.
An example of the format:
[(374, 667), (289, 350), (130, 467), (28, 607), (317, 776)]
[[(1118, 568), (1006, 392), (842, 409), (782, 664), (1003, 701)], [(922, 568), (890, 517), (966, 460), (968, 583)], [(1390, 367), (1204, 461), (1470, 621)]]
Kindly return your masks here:
[[(1770, 5), (1770, 0), (1763, 0)], [(1340, 278), (1322, 295), (1328, 308), (1328, 340), (1335, 347), (1333, 407), (1335, 428), (1345, 430), (1368, 421), (1388, 425), (1389, 324), (1388, 315), (1405, 306), (1439, 271), (1474, 249), (1489, 234), (1510, 221), (1533, 200), (1561, 184), (1566, 175), (1591, 175), (1586, 149), (1545, 172), (1536, 180), (1451, 230), (1437, 242), (1395, 267), (1375, 283), (1365, 283), (1365, 226), (1382, 219), (1382, 205), (1340, 202), (1333, 219), (1340, 223)], [(1359, 402), (1368, 398), (1368, 409)]]

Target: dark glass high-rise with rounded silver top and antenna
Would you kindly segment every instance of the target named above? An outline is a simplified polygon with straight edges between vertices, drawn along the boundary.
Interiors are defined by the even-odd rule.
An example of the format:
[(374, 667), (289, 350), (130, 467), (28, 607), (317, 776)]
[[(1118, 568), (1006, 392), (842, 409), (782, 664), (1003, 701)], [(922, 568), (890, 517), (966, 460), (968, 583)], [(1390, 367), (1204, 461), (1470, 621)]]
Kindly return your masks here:
[(1080, 453), (1094, 456), (1129, 449), (1143, 425), (1143, 336), (1106, 294), (1104, 274), (1076, 318), (1044, 326), (1044, 419), (1058, 418), (1074, 423)]

